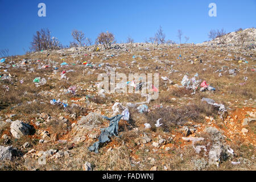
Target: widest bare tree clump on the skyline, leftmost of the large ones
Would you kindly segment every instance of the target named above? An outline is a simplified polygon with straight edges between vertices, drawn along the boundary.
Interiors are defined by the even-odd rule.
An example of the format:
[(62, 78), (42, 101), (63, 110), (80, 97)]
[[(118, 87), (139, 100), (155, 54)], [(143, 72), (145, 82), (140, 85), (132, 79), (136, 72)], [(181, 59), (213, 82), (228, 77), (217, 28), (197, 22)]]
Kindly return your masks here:
[(36, 35), (32, 38), (31, 46), (32, 51), (41, 51), (59, 49), (61, 44), (57, 38), (51, 38), (51, 32), (48, 28), (42, 28), (40, 31), (36, 31)]

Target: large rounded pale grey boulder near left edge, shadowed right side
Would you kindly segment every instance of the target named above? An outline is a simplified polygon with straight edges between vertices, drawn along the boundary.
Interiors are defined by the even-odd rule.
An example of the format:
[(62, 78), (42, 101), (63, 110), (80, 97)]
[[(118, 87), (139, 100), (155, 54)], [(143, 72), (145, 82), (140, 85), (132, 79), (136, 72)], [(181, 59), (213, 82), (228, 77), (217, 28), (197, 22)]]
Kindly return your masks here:
[(13, 137), (19, 139), (24, 135), (32, 134), (33, 126), (16, 120), (13, 123), (11, 123), (10, 129), (11, 134), (13, 134)]

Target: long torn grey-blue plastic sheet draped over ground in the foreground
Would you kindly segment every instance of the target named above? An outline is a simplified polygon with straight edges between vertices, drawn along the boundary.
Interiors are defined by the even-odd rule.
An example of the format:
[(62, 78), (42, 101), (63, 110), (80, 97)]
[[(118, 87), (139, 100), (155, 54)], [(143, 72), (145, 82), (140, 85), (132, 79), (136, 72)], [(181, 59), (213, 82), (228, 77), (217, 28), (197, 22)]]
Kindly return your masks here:
[(106, 127), (105, 129), (101, 129), (100, 137), (98, 138), (98, 142), (93, 143), (92, 146), (88, 147), (88, 150), (91, 152), (98, 153), (98, 148), (100, 147), (100, 143), (109, 142), (109, 137), (112, 137), (113, 135), (115, 137), (118, 136), (118, 122), (123, 117), (122, 114), (115, 115), (112, 118), (108, 118), (104, 115), (102, 115), (103, 118), (108, 119), (110, 121), (109, 127)]

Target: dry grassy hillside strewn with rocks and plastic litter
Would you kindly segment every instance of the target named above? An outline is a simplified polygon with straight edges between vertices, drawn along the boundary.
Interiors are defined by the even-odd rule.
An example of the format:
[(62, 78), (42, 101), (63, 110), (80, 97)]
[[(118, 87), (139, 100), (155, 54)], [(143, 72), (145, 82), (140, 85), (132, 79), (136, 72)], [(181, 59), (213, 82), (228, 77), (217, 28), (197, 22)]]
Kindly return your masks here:
[[(255, 170), (255, 67), (254, 47), (209, 44), (1, 59), (0, 170)], [(159, 87), (142, 75), (110, 92), (111, 72)]]

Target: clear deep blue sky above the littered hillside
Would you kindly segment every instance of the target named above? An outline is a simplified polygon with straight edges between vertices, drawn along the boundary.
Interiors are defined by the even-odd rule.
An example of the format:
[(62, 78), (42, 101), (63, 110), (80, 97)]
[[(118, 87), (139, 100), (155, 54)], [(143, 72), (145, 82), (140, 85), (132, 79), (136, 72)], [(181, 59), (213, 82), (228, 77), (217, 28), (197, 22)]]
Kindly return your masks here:
[[(38, 16), (38, 4), (46, 4), (46, 17)], [(216, 3), (217, 17), (210, 17), (209, 3)], [(208, 40), (211, 29), (256, 27), (256, 0), (0, 0), (0, 49), (22, 55), (32, 36), (49, 28), (64, 45), (72, 41), (71, 32), (81, 30), (93, 41), (101, 31), (110, 31), (118, 43), (131, 36), (144, 42), (162, 26), (166, 39), (179, 42), (177, 30), (188, 43)], [(181, 42), (184, 42), (184, 36)]]

